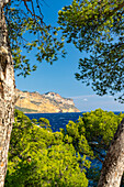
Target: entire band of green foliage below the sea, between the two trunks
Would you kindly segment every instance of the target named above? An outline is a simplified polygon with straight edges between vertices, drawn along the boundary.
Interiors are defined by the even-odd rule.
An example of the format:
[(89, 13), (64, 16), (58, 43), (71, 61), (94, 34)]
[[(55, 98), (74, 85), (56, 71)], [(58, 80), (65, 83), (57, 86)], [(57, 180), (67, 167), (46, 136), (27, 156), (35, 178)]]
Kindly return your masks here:
[(47, 119), (30, 120), (19, 110), (14, 116), (7, 187), (97, 186), (110, 142), (124, 118), (97, 109), (53, 132)]

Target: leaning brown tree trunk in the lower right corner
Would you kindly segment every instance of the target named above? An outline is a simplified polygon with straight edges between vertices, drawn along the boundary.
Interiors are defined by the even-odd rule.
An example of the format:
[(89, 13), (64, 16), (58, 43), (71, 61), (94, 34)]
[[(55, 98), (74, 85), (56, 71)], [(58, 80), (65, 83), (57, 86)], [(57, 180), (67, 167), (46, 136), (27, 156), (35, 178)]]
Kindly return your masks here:
[(98, 187), (120, 187), (124, 172), (124, 119), (104, 160)]

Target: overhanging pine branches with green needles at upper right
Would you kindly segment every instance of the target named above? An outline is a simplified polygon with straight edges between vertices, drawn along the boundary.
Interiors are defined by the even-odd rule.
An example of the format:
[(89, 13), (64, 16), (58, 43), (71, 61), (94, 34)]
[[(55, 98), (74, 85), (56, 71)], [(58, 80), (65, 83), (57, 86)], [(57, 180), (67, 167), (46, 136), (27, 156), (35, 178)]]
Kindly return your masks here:
[[(79, 59), (76, 78), (98, 95), (115, 95), (124, 89), (123, 0), (74, 0), (58, 12), (63, 37), (90, 57)], [(122, 95), (119, 101), (123, 102)]]

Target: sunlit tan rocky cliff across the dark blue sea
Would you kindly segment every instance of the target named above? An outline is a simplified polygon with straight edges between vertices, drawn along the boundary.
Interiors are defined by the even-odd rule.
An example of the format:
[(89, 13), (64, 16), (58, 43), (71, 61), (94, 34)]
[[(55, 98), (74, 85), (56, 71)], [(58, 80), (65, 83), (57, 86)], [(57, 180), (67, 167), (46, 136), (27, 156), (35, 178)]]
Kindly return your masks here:
[(58, 112), (80, 112), (74, 103), (72, 99), (63, 98), (55, 92), (21, 91), (16, 89), (19, 99), (15, 108), (27, 113), (58, 113)]

